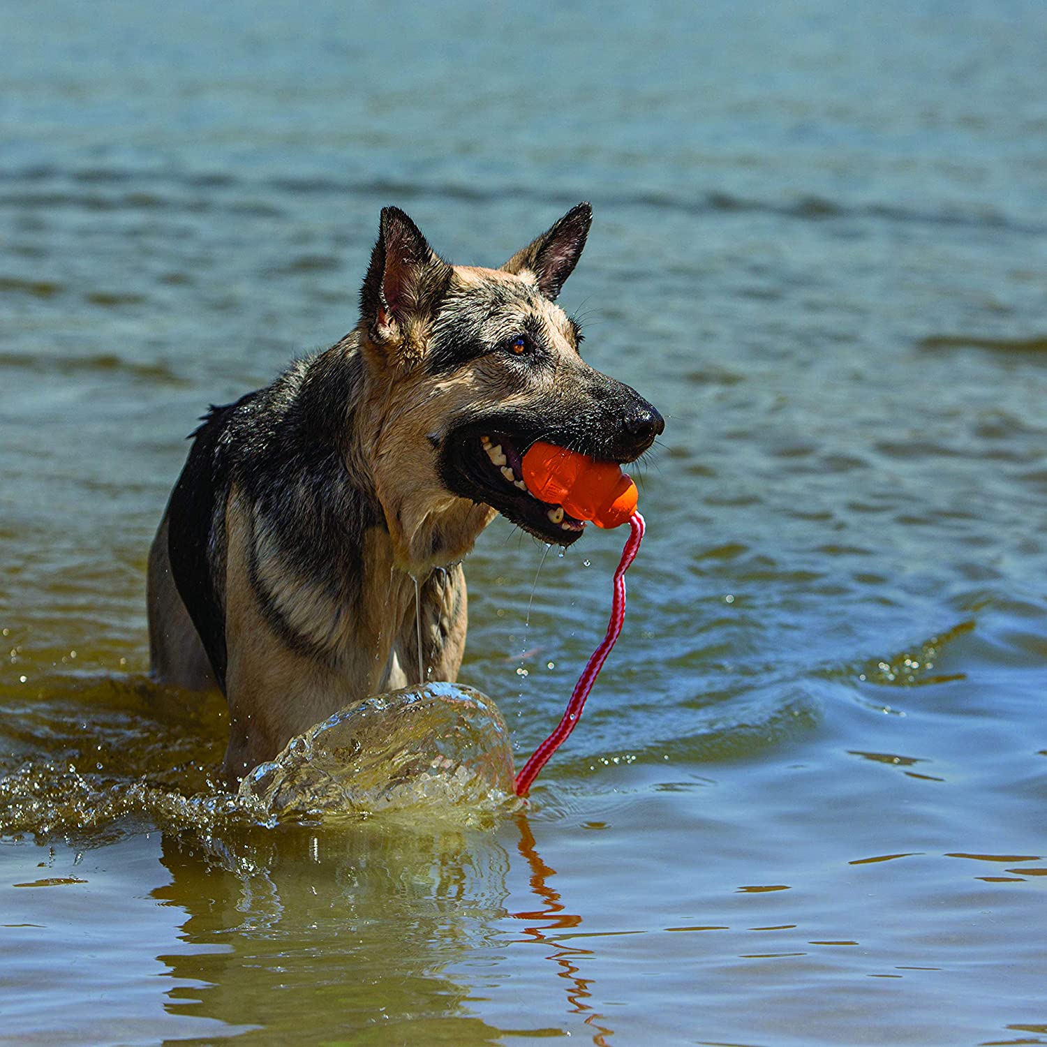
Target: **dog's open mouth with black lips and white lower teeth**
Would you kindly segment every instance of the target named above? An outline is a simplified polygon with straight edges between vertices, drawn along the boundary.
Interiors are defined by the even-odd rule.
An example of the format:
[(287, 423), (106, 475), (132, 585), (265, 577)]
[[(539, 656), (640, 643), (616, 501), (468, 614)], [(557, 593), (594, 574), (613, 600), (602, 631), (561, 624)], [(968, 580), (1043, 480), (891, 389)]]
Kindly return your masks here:
[(542, 502), (527, 489), (522, 460), (532, 442), (494, 428), (463, 433), (446, 461), (453, 473), (448, 480), (459, 493), (486, 503), (536, 538), (570, 545), (585, 524), (564, 512), (563, 506)]

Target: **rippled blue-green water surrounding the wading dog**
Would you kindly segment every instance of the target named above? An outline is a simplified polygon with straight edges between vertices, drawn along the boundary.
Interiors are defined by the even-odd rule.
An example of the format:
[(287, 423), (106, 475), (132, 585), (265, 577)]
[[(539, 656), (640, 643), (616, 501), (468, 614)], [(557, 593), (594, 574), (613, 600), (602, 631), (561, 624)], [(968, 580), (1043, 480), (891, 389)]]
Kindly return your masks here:
[[(1047, 1043), (1042, 4), (0, 39), (0, 1042)], [(524, 815), (250, 824), (146, 680), (185, 433), (353, 326), (382, 205), (497, 264), (581, 199), (563, 302), (667, 419), (584, 721)], [(518, 761), (622, 537), (467, 561)]]

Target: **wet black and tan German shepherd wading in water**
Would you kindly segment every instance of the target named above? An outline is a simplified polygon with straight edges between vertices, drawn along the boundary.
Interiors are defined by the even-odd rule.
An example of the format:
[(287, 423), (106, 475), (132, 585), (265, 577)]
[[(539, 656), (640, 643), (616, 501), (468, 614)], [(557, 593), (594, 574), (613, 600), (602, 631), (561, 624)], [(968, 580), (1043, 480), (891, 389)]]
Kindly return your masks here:
[(203, 417), (150, 552), (150, 655), (155, 678), (225, 693), (230, 783), (419, 664), (456, 677), (461, 561), (495, 513), (544, 542), (582, 534), (526, 489), (532, 443), (624, 463), (662, 432), (556, 305), (592, 217), (482, 269), (384, 208), (353, 331)]

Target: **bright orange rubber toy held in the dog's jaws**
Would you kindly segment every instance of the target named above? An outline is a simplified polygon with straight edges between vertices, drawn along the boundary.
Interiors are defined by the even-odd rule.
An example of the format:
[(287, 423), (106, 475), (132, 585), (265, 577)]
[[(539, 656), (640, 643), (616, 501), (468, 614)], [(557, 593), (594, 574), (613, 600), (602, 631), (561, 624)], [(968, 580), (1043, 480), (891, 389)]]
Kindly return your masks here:
[(524, 483), (536, 498), (597, 527), (616, 528), (637, 509), (637, 485), (616, 463), (554, 444), (531, 445), (524, 455)]

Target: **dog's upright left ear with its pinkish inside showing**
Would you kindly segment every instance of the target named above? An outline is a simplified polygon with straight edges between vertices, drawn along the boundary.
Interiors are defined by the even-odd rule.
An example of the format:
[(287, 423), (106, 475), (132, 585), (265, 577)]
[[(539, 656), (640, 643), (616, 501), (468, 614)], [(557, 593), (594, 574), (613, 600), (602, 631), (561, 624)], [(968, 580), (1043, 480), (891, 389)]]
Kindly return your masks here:
[(383, 207), (378, 242), (360, 289), (360, 316), (379, 342), (399, 340), (450, 266), (399, 207)]

